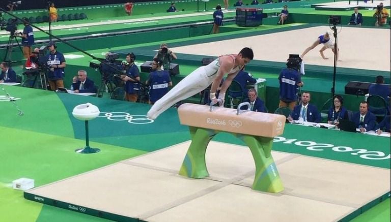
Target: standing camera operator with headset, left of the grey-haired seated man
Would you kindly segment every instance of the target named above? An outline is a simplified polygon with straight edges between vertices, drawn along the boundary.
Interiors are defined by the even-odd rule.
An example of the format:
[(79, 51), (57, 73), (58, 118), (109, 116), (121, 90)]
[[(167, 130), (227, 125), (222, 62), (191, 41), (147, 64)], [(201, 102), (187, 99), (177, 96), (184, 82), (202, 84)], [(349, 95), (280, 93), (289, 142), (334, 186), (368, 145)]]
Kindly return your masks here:
[(55, 91), (58, 87), (64, 88), (64, 68), (66, 67), (64, 55), (57, 51), (55, 42), (50, 41), (47, 45), (49, 53), (46, 55), (47, 77), (51, 90)]

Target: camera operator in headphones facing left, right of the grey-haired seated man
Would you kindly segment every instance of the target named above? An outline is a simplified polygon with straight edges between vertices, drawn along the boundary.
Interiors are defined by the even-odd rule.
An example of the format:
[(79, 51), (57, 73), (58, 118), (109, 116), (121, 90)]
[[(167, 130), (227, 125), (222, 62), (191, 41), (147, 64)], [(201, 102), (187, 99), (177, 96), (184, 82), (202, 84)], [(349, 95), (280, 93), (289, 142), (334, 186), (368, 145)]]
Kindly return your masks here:
[(136, 56), (133, 52), (126, 55), (126, 61), (129, 63), (129, 68), (125, 75), (121, 75), (121, 79), (125, 81), (125, 100), (136, 102), (138, 98), (140, 74), (137, 66), (134, 64)]

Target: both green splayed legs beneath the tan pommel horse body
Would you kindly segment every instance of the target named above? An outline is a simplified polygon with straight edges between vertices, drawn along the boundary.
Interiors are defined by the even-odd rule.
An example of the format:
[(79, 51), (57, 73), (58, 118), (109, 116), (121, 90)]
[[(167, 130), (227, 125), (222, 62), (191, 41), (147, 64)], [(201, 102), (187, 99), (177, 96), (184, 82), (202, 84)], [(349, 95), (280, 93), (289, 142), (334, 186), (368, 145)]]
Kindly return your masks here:
[[(205, 163), (206, 148), (219, 131), (189, 126), (191, 144), (183, 160), (179, 174), (191, 178), (209, 176)], [(283, 183), (271, 156), (273, 138), (234, 134), (250, 148), (256, 166), (252, 188), (257, 191), (278, 193), (284, 190)]]

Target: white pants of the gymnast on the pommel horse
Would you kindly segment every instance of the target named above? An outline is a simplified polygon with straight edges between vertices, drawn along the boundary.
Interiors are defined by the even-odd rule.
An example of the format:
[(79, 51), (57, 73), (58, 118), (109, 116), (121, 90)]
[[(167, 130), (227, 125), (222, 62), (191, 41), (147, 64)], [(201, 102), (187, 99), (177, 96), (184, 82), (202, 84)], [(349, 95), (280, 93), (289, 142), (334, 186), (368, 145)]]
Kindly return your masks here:
[(207, 88), (216, 78), (215, 74), (210, 77), (208, 77), (208, 75), (211, 75), (208, 66), (199, 67), (191, 72), (160, 100), (156, 101), (148, 111), (148, 118), (155, 119), (160, 113), (169, 109), (179, 101), (187, 99)]

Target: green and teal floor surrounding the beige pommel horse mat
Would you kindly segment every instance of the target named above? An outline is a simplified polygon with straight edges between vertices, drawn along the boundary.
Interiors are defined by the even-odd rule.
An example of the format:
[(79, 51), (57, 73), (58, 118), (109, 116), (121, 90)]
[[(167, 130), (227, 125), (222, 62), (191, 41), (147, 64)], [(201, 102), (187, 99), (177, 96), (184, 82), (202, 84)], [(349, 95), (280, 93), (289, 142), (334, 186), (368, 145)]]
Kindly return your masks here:
[[(27, 177), (35, 179), (36, 186), (39, 186), (190, 139), (187, 128), (179, 124), (175, 109), (164, 112), (154, 125), (146, 126), (99, 118), (90, 121), (90, 145), (102, 151), (88, 155), (77, 154), (74, 149), (85, 145), (85, 136), (83, 122), (76, 120), (71, 114), (75, 105), (91, 102), (97, 105), (101, 112), (125, 111), (132, 114), (145, 114), (150, 106), (57, 94), (18, 86), (6, 86), (5, 90), (13, 97), (21, 98), (16, 103), (24, 111), (24, 115), (18, 116), (12, 103), (3, 103), (4, 105), (0, 106), (0, 112), (9, 115), (0, 123), (0, 131), (3, 132), (0, 156), (7, 156), (0, 162), (1, 221), (103, 221), (92, 216), (27, 201), (23, 199), (22, 192), (10, 187), (10, 183), (14, 179)], [(166, 125), (170, 125), (170, 128), (165, 128)], [(390, 159), (386, 157), (389, 155), (389, 147), (386, 145), (389, 138), (303, 128), (298, 125), (287, 125), (282, 137), (291, 142), (276, 141), (273, 150), (390, 168)], [(346, 140), (347, 137), (350, 138), (349, 142)], [(361, 151), (360, 155), (351, 155), (350, 152), (337, 152), (331, 149), (312, 151), (305, 149), (305, 146), (290, 145), (295, 141), (306, 141), (308, 138), (312, 138), (318, 144), (329, 143), (328, 138), (333, 138), (333, 146), (352, 147), (351, 152), (358, 151), (356, 148), (365, 148), (368, 153), (376, 151), (377, 154), (376, 157), (373, 156), (374, 160), (369, 160), (360, 157), (367, 151)], [(243, 145), (240, 140), (229, 134), (217, 135), (215, 140)], [(389, 200), (360, 216), (364, 219), (356, 219), (387, 221), (385, 215), (389, 215), (390, 212), (387, 206)], [(24, 213), (20, 214), (19, 210)], [(368, 217), (375, 214), (378, 215), (374, 220), (368, 220)], [(378, 218), (381, 220), (377, 220)]]

